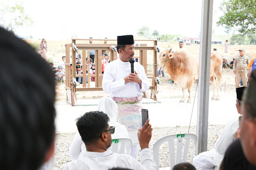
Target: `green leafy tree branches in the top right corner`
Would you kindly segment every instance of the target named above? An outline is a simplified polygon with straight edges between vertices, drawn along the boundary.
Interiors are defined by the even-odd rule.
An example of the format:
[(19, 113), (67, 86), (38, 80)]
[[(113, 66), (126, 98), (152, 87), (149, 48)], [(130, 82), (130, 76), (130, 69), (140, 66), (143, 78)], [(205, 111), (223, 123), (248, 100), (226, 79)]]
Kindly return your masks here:
[(242, 35), (255, 33), (256, 30), (256, 1), (228, 0), (222, 2), (220, 10), (224, 13), (217, 22), (220, 26), (237, 26)]

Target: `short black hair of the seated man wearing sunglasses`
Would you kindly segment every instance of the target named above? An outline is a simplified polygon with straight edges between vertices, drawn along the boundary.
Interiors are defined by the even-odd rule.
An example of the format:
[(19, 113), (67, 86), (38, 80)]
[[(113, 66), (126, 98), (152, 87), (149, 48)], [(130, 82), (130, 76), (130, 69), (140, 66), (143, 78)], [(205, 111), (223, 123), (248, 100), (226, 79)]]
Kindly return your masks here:
[(109, 117), (100, 111), (87, 112), (77, 119), (77, 129), (85, 144), (96, 142), (99, 136), (107, 130)]

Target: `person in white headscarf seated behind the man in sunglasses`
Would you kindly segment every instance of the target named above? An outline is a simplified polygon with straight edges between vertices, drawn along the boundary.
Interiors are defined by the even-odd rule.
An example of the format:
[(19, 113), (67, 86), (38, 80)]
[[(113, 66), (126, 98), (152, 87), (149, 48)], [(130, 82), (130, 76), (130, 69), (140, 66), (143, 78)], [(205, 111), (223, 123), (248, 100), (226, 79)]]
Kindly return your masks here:
[[(97, 110), (106, 113), (109, 117), (109, 126), (115, 127), (115, 133), (111, 134), (112, 139), (129, 138), (125, 125), (117, 123), (118, 107), (115, 101), (113, 101), (110, 97), (103, 97), (99, 101)], [(112, 147), (109, 147), (109, 149), (111, 148)], [(85, 151), (85, 144), (82, 141), (79, 132), (77, 132), (69, 147), (69, 154), (71, 155), (72, 161), (77, 160), (79, 155)]]

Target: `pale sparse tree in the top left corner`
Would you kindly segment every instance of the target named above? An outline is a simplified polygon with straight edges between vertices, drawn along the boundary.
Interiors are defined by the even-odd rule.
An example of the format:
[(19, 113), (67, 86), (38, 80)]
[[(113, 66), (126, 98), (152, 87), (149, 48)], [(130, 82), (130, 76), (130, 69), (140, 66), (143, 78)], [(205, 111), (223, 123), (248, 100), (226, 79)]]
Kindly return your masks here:
[(8, 6), (0, 3), (0, 26), (14, 33), (14, 31), (23, 26), (33, 24), (31, 18), (25, 14), (21, 3), (16, 3), (14, 6)]

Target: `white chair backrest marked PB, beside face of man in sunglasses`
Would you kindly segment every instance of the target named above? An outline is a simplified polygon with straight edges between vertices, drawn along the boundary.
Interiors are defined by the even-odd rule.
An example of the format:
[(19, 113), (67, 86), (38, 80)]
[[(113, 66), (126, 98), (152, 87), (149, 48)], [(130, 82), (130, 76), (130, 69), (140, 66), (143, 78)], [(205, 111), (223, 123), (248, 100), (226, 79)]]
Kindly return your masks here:
[(131, 139), (112, 139), (112, 152), (118, 154), (131, 154)]

